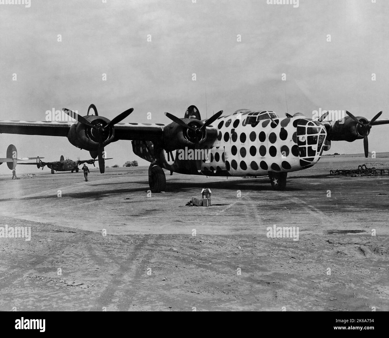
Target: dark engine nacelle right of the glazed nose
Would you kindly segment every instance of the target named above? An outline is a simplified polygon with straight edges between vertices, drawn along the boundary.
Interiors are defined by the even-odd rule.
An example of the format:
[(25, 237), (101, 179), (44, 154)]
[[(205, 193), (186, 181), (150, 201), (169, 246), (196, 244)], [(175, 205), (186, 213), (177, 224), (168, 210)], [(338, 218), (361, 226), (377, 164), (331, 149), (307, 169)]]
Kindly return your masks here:
[[(365, 123), (369, 122), (364, 117), (357, 116), (357, 119)], [(363, 138), (361, 125), (349, 116), (346, 116), (343, 121), (335, 121), (328, 130), (328, 139), (331, 141), (353, 142), (361, 138)]]

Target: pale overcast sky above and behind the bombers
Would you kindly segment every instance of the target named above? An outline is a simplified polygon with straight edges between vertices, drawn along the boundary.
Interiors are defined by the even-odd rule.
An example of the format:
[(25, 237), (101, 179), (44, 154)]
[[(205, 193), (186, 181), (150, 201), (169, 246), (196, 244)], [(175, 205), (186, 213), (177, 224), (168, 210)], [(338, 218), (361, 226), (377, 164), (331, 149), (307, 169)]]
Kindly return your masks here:
[[(184, 117), (191, 104), (203, 118), (241, 108), (284, 116), (285, 89), (291, 114), (343, 109), (372, 118), (383, 110), (389, 118), (388, 16), (387, 0), (300, 0), (297, 8), (266, 0), (0, 5), (0, 120), (42, 121), (46, 110), (63, 107), (86, 115), (90, 103), (110, 119), (133, 107), (125, 122), (170, 123), (165, 111)], [(372, 128), (370, 151), (389, 151), (388, 128)], [(90, 158), (64, 137), (9, 134), (0, 134), (0, 157), (10, 143), (19, 157)], [(130, 141), (105, 150), (114, 157), (109, 165), (146, 164)], [(363, 140), (332, 142), (329, 152), (362, 153)], [(26, 168), (18, 172), (37, 172)]]

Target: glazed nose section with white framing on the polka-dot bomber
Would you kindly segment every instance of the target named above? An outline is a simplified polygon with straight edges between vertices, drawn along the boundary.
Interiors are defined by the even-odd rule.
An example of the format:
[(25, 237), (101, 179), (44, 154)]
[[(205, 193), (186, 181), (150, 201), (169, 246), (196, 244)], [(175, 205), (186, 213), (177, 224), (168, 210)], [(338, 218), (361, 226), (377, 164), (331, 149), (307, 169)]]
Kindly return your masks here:
[(297, 124), (297, 145), (300, 166), (311, 166), (323, 152), (326, 128), (319, 121), (300, 119)]

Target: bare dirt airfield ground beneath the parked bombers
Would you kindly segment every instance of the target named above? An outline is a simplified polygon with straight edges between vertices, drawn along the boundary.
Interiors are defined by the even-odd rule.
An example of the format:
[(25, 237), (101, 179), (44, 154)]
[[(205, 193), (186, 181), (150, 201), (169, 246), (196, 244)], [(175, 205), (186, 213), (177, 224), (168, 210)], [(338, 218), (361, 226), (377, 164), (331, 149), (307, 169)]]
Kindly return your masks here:
[[(0, 310), (388, 311), (389, 175), (329, 177), (365, 162), (389, 168), (326, 157), (282, 192), (166, 173), (148, 197), (144, 167), (2, 176), (0, 227), (31, 240), (0, 238)], [(212, 207), (185, 207), (203, 187)], [(268, 238), (273, 225), (298, 240)]]

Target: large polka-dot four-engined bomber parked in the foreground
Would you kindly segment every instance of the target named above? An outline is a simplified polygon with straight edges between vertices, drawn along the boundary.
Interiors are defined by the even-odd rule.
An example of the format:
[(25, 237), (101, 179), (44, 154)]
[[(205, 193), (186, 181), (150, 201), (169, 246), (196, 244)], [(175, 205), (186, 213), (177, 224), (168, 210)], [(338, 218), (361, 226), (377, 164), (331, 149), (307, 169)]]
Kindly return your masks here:
[[(89, 115), (93, 109), (95, 115)], [(223, 110), (209, 119), (201, 120), (198, 109), (191, 105), (184, 118), (165, 113), (170, 124), (123, 123), (133, 108), (111, 121), (98, 116), (91, 104), (87, 115), (63, 109), (76, 119), (71, 122), (0, 121), (0, 133), (50, 135), (67, 137), (75, 147), (86, 149), (98, 158), (100, 172), (104, 172), (104, 147), (118, 140), (131, 140), (133, 152), (149, 162), (149, 186), (153, 193), (165, 190), (166, 177), (162, 168), (187, 175), (261, 176), (268, 175), (275, 190), (286, 187), (288, 172), (315, 165), (331, 141), (353, 142), (364, 139), (368, 156), (368, 135), (371, 126), (387, 124), (378, 120), (379, 112), (370, 121), (349, 112), (343, 121), (312, 120), (296, 113), (279, 117), (273, 111), (240, 109), (228, 116)], [(207, 149), (208, 159), (180, 159), (173, 151)], [(165, 151), (168, 156), (166, 161)], [(170, 157), (173, 160), (169, 164)]]

